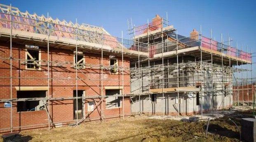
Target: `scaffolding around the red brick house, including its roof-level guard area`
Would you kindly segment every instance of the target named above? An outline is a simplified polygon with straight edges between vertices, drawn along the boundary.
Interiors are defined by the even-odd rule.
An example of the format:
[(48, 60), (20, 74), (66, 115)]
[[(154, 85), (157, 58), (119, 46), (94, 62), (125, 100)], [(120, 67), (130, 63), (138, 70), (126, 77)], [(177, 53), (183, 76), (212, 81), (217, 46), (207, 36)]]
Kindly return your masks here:
[[(28, 12), (20, 12), (19, 9), (7, 6), (7, 5), (0, 5), (1, 13), (0, 13), (0, 28), (1, 28), (1, 40), (7, 42), (10, 42), (10, 54), (9, 57), (4, 56), (4, 54), (1, 54), (0, 59), (2, 62), (9, 61), (9, 70), (10, 74), (7, 76), (4, 76), (5, 74), (1, 74), (1, 79), (6, 80), (9, 79), (10, 81), (10, 97), (7, 98), (1, 98), (0, 102), (4, 103), (10, 103), (10, 127), (9, 128), (1, 128), (1, 131), (7, 130), (7, 131), (13, 131), (13, 130), (19, 130), (21, 128), (33, 128), (37, 126), (45, 126), (48, 125), (48, 128), (52, 128), (54, 126), (57, 126), (59, 123), (74, 123), (75, 126), (80, 124), (83, 121), (90, 121), (94, 119), (100, 119), (103, 121), (104, 119), (113, 118), (113, 117), (122, 117), (124, 119), (124, 116), (130, 115), (125, 114), (124, 112), (124, 100), (127, 100), (127, 97), (129, 98), (132, 95), (136, 94), (129, 94), (125, 93), (125, 88), (127, 88), (127, 83), (130, 83), (129, 80), (124, 80), (125, 75), (129, 75), (129, 67), (124, 66), (124, 58), (125, 61), (127, 61), (127, 58), (130, 58), (131, 60), (133, 58), (136, 58), (136, 54), (141, 54), (140, 58), (146, 58), (145, 52), (147, 52), (147, 44), (134, 42), (132, 40), (126, 40), (123, 37), (113, 37), (109, 33), (106, 32), (102, 27), (96, 27), (91, 26), (87, 24), (81, 24), (79, 25), (77, 22), (75, 24), (66, 21), (59, 21), (58, 19), (54, 20), (51, 17), (49, 17), (49, 14), (47, 14), (47, 17), (45, 16), (38, 16), (36, 14), (29, 14)], [(13, 33), (15, 31), (15, 33)], [(39, 36), (33, 37), (33, 35), (26, 35), (22, 32), (29, 32), (29, 33), (35, 33), (40, 34), (42, 37), (40, 39)], [(54, 37), (57, 37), (57, 39), (54, 39)], [(8, 40), (9, 38), (9, 40)], [(65, 38), (64, 40), (61, 38)], [(65, 42), (69, 40), (68, 42)], [(82, 42), (81, 42), (82, 41)], [(13, 43), (22, 43), (22, 44), (29, 44), (29, 45), (35, 45), (40, 47), (47, 47), (47, 61), (45, 60), (36, 60), (30, 55), (30, 59), (23, 59), (23, 58), (14, 58), (12, 54), (12, 44)], [(93, 43), (93, 44), (92, 44)], [(75, 63), (70, 61), (53, 61), (50, 56), (50, 48), (51, 49), (70, 49), (73, 50), (75, 53)], [(89, 63), (81, 63), (78, 61), (78, 53), (82, 51), (85, 53), (94, 53), (101, 55), (100, 57), (100, 63), (97, 64), (89, 64)], [(143, 52), (143, 53), (141, 53)], [(2, 56), (3, 55), (3, 56)], [(117, 56), (121, 57), (120, 61), (122, 64), (119, 66), (113, 66), (113, 65), (104, 65), (104, 60), (106, 60), (106, 55), (111, 56)], [(15, 65), (18, 63), (20, 65), (34, 65), (38, 66), (40, 68), (46, 67), (45, 71), (47, 72), (47, 77), (16, 77), (16, 75), (13, 75), (13, 63), (15, 62)], [(53, 77), (52, 76), (52, 70), (56, 68), (67, 68), (70, 67), (74, 69), (75, 72), (75, 78), (72, 77)], [(121, 76), (121, 79), (104, 79), (104, 74), (106, 72), (110, 72), (113, 68), (116, 68), (117, 74), (116, 76)], [(87, 76), (87, 72), (85, 70), (99, 70), (100, 78), (94, 79)], [(13, 80), (16, 79), (37, 79), (37, 80), (47, 80), (47, 95), (45, 98), (12, 98), (13, 93)], [(74, 97), (51, 97), (50, 91), (53, 89), (52, 81), (53, 80), (70, 80), (75, 81), (75, 96)], [(99, 82), (100, 85), (96, 85), (99, 88), (99, 94), (86, 94), (82, 97), (78, 96), (78, 90), (80, 83), (79, 81), (96, 81)], [(103, 84), (104, 81), (106, 82), (117, 82), (117, 84), (121, 84), (122, 93), (113, 95), (113, 96), (107, 96), (103, 94)], [(89, 85), (90, 86), (90, 85)], [(106, 86), (106, 84), (104, 85)], [(22, 87), (22, 86), (21, 86)], [(20, 87), (20, 88), (21, 88)], [(97, 93), (97, 91), (95, 91)], [(57, 95), (58, 96), (58, 95)], [(65, 96), (65, 95), (63, 95)], [(105, 115), (104, 114), (104, 107), (103, 107), (103, 101), (106, 98), (110, 97), (121, 97), (122, 98), (122, 107), (120, 107), (121, 111), (119, 114), (115, 115)], [(78, 119), (78, 113), (76, 113), (76, 119), (70, 120), (70, 121), (57, 121), (54, 122), (52, 120), (52, 115), (50, 108), (52, 104), (56, 101), (64, 101), (64, 100), (76, 100), (76, 111), (78, 111), (78, 99), (83, 100), (83, 110), (85, 111), (85, 101), (86, 100), (93, 100), (95, 102), (93, 111), (95, 109), (99, 109), (100, 116), (99, 117), (93, 117), (93, 118), (87, 118), (90, 113), (87, 112), (83, 113), (82, 119)], [(45, 104), (45, 110), (47, 112), (47, 118), (48, 123), (40, 123), (36, 125), (28, 125), (28, 126), (13, 126), (13, 111), (12, 106), (13, 103), (20, 102), (20, 101), (35, 101), (35, 100), (45, 100), (47, 103)]]

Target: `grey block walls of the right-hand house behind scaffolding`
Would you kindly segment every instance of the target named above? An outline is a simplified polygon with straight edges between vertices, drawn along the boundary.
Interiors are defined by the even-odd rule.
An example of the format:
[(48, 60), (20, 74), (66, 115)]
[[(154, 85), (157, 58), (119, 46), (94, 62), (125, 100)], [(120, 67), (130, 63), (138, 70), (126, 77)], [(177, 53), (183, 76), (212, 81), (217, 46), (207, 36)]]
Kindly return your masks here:
[[(203, 62), (203, 69), (201, 75), (199, 59), (192, 56), (179, 57), (179, 87), (196, 86), (197, 82), (203, 80), (202, 91), (211, 91), (212, 84), (214, 84), (214, 92), (203, 92), (202, 100), (201, 93), (199, 93), (200, 105), (196, 104), (196, 92), (180, 92), (180, 113), (182, 115), (190, 115), (201, 112), (201, 103), (203, 111), (212, 109), (222, 109), (223, 107), (230, 107), (233, 104), (232, 84), (229, 84), (226, 96), (222, 90), (222, 86), (232, 82), (232, 76), (229, 74), (229, 68), (220, 65), (214, 65), (213, 70), (209, 63)], [(182, 64), (183, 63), (183, 64)], [(197, 65), (196, 65), (197, 64)], [(148, 63), (141, 63), (142, 70), (131, 71), (131, 91), (132, 93), (145, 93), (148, 92), (149, 86), (154, 88), (173, 88), (177, 87), (177, 64), (176, 58), (164, 59), (164, 74), (162, 72), (162, 60), (150, 61), (150, 68)], [(168, 66), (167, 66), (168, 65)], [(132, 67), (134, 67), (132, 65)], [(136, 65), (137, 67), (138, 65)], [(167, 68), (169, 67), (169, 68)], [(223, 70), (223, 77), (222, 72)], [(140, 74), (140, 79), (139, 79)], [(202, 77), (202, 78), (201, 78)], [(164, 78), (164, 83), (162, 79)], [(163, 85), (163, 86), (162, 86)], [(141, 89), (139, 89), (141, 87)], [(151, 96), (151, 95), (150, 95)], [(150, 112), (151, 114), (173, 114), (178, 115), (178, 94), (175, 93), (157, 93), (157, 101), (152, 102), (149, 100), (149, 95), (141, 95), (132, 98), (132, 112)], [(141, 100), (141, 101), (140, 101)], [(224, 103), (222, 103), (224, 102)], [(141, 106), (141, 107), (140, 107)]]

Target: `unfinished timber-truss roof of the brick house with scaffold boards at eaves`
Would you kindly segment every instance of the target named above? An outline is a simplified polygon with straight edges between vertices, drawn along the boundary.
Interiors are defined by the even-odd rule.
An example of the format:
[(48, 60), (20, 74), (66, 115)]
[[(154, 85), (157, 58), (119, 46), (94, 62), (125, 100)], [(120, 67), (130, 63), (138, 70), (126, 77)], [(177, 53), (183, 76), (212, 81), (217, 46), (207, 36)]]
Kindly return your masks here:
[[(101, 53), (103, 49), (104, 54), (116, 56), (120, 56), (122, 51), (129, 58), (137, 58), (138, 54), (148, 56), (147, 44), (113, 37), (103, 28), (29, 14), (16, 7), (12, 7), (12, 11), (10, 9), (10, 6), (0, 4), (1, 40), (8, 40), (12, 28), (13, 42), (17, 43), (45, 47), (49, 35), (50, 46), (55, 48), (74, 50), (77, 46), (78, 50), (84, 52)], [(138, 50), (138, 45), (140, 51), (134, 51)]]

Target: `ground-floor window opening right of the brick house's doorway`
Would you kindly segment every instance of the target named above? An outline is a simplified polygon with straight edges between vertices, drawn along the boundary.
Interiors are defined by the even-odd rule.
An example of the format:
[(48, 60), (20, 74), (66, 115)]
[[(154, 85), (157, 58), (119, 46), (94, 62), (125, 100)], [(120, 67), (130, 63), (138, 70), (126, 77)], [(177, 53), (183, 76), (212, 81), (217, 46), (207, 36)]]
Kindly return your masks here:
[(106, 108), (111, 109), (111, 108), (118, 108), (121, 106), (121, 102), (120, 102), (120, 97), (115, 96), (121, 94), (121, 90), (120, 89), (107, 89), (106, 90), (106, 96), (108, 96), (108, 98), (106, 98)]

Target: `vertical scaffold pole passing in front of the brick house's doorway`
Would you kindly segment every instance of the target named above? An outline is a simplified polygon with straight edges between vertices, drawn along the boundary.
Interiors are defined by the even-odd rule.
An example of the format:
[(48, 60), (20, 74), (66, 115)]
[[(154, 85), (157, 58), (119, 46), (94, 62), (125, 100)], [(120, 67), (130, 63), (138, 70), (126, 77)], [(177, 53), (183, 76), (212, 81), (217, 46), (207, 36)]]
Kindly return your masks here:
[(76, 94), (76, 125), (78, 125), (78, 19), (75, 27), (75, 94)]

